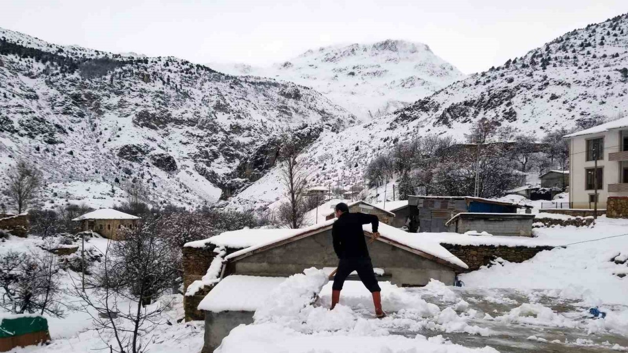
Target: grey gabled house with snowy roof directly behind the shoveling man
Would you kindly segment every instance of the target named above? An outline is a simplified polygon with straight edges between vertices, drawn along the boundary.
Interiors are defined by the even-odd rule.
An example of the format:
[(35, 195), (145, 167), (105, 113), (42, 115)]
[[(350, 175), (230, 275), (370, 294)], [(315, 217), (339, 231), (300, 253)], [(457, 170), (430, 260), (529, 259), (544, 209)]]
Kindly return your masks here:
[[(200, 280), (185, 288), (185, 316), (186, 320), (205, 318), (203, 352), (213, 352), (237, 325), (252, 322), (260, 293), (268, 293), (288, 276), (308, 268), (331, 274), (338, 264), (332, 245), (333, 222), (335, 219), (305, 229), (243, 229), (228, 236), (221, 234), (221, 239), (185, 244), (184, 282), (189, 283), (185, 279), (190, 271), (200, 272), (195, 274)], [(365, 237), (370, 238), (371, 225), (364, 225), (364, 230)], [(438, 242), (384, 223), (380, 223), (379, 232), (381, 236), (369, 244), (369, 253), (380, 280), (399, 286), (424, 286), (433, 278), (454, 285), (456, 273), (468, 268)], [(253, 246), (232, 251), (256, 241)], [(198, 271), (196, 263), (203, 263), (205, 272)]]

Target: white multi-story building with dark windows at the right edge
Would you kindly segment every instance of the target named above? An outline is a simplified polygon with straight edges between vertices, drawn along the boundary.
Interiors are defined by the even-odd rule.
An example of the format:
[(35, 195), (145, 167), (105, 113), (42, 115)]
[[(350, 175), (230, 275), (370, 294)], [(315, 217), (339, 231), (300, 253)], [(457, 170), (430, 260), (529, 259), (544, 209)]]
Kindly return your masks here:
[(568, 134), (569, 201), (574, 209), (593, 209), (597, 158), (597, 207), (609, 196), (628, 196), (628, 117)]

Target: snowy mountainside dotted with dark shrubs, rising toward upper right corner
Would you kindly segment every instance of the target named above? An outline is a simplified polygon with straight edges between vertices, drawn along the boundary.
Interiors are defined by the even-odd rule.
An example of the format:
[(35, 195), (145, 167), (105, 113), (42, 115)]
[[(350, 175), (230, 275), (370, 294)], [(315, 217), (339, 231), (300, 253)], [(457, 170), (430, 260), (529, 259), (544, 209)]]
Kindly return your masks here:
[[(385, 117), (325, 133), (301, 156), (311, 185), (355, 185), (369, 161), (396, 141), (426, 134), (464, 138), (482, 118), (542, 138), (578, 121), (628, 112), (628, 15), (570, 31), (475, 73)], [(264, 207), (279, 200), (278, 170), (229, 200), (227, 207)]]

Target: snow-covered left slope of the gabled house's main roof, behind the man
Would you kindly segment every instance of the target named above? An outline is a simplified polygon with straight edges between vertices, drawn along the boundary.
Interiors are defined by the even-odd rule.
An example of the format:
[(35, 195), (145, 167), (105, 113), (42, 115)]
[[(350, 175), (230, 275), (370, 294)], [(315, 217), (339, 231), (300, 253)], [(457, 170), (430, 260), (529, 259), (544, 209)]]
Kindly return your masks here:
[(282, 237), (292, 236), (301, 229), (240, 229), (239, 231), (223, 232), (208, 239), (191, 241), (185, 243), (184, 247), (205, 247), (208, 244), (215, 246), (225, 246), (240, 249), (249, 246), (256, 246), (266, 242), (274, 242)]

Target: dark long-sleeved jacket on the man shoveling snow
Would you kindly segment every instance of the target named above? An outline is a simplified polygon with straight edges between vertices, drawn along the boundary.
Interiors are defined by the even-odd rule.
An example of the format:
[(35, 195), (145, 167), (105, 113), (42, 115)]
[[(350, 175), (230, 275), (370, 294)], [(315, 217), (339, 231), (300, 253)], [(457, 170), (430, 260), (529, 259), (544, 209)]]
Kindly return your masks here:
[(371, 223), (373, 232), (377, 232), (379, 219), (376, 215), (345, 212), (333, 222), (333, 251), (340, 259), (369, 258), (366, 247), (363, 224)]

